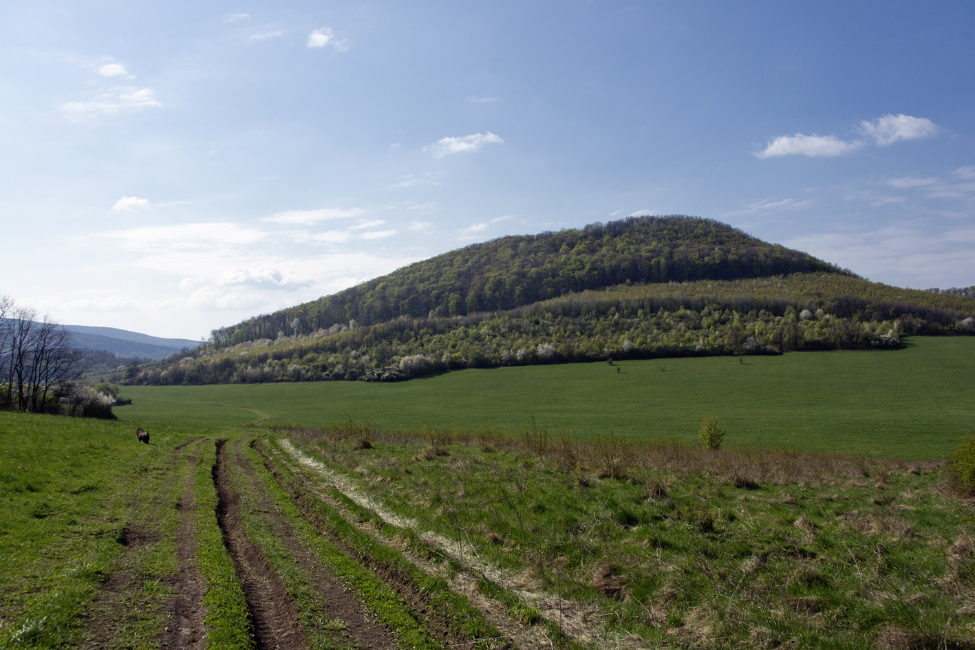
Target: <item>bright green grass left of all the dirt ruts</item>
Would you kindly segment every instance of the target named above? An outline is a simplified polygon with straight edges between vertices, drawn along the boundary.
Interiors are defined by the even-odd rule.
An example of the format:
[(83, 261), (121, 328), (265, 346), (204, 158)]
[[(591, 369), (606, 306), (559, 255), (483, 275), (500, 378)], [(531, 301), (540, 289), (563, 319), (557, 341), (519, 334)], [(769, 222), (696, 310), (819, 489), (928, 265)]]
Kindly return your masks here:
[[(176, 571), (168, 449), (118, 423), (15, 413), (0, 445), (0, 647), (74, 646), (90, 619), (127, 639), (115, 647), (152, 647)], [(110, 575), (137, 597), (98, 601)]]

